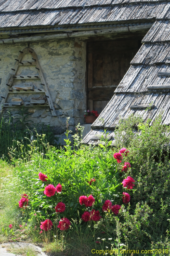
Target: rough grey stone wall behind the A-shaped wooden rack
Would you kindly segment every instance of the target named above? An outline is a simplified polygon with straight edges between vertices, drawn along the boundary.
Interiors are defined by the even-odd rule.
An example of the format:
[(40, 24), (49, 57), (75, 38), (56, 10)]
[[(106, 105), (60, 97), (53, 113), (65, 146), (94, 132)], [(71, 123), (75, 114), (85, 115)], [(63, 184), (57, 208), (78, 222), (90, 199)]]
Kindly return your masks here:
[[(28, 44), (12, 44), (0, 46), (0, 95), (6, 90), (6, 79), (14, 68), (19, 51), (28, 47)], [(84, 42), (68, 39), (59, 41), (30, 43), (40, 61), (57, 116), (52, 116), (48, 107), (28, 107), (31, 113), (29, 120), (35, 124), (50, 124), (56, 134), (66, 130), (66, 118), (70, 116), (70, 128), (74, 129), (79, 122), (84, 124), (84, 110), (86, 109), (85, 71), (86, 71), (86, 44)], [(25, 55), (23, 61), (31, 60), (31, 55)], [(23, 66), (18, 75), (38, 74), (31, 66)], [(33, 82), (34, 86), (41, 88), (40, 80), (14, 80), (15, 84)], [(34, 96), (33, 96), (34, 95)], [(37, 93), (11, 93), (11, 97), (22, 97), (29, 101), (29, 97), (39, 97)], [(2, 99), (2, 98), (0, 98)], [(18, 108), (5, 108), (4, 111), (15, 112)]]

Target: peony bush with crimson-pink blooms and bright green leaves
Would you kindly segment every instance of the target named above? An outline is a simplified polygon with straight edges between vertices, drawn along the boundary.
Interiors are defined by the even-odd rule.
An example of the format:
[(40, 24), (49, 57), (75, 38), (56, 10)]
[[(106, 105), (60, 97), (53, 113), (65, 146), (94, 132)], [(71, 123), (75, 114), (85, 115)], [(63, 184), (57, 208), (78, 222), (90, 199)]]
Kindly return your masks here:
[[(49, 228), (45, 225), (52, 223), (56, 214), (60, 219), (60, 230), (69, 229), (71, 219), (77, 219), (78, 215), (84, 222), (99, 221), (107, 212), (117, 216), (121, 205), (130, 201), (130, 195), (125, 191), (135, 186), (135, 180), (126, 174), (130, 163), (124, 162), (122, 169), (121, 162), (128, 153), (126, 148), (121, 148), (119, 152), (111, 153), (108, 159), (101, 155), (86, 159), (85, 163), (77, 161), (74, 155), (68, 158), (55, 154), (51, 168), (41, 169), (33, 179), (36, 192), (32, 206), (46, 218), (41, 222), (41, 229), (51, 229), (52, 225), (49, 224)], [(107, 170), (103, 169), (106, 162)]]

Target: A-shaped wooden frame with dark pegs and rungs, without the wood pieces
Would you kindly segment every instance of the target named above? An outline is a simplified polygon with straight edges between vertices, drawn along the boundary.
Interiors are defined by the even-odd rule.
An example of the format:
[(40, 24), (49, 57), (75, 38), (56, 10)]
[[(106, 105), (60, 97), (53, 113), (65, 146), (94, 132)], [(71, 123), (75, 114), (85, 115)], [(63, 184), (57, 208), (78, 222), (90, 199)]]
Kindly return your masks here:
[[(24, 57), (25, 54), (31, 54), (32, 55), (32, 60), (33, 61), (23, 61), (22, 62), (22, 59)], [(15, 64), (15, 67), (14, 68), (11, 68), (12, 72), (9, 74), (8, 78), (7, 78), (7, 81), (6, 81), (6, 85), (7, 85), (7, 89), (4, 93), (3, 96), (1, 96), (2, 98), (2, 101), (1, 101), (1, 105), (0, 105), (0, 111), (2, 112), (2, 109), (4, 107), (13, 107), (13, 106), (21, 106), (21, 105), (24, 105), (24, 106), (49, 106), (50, 110), (51, 110), (51, 113), (53, 116), (57, 116), (56, 114), (56, 111), (55, 111), (55, 108), (54, 108), (54, 105), (53, 105), (53, 101), (51, 99), (51, 95), (50, 95), (50, 92), (49, 92), (49, 89), (47, 87), (47, 83), (45, 81), (45, 77), (43, 75), (43, 72), (42, 72), (42, 69), (41, 69), (41, 66), (40, 66), (40, 63), (38, 61), (38, 58), (37, 58), (37, 55), (35, 53), (35, 51), (31, 48), (26, 48), (22, 51), (20, 51), (20, 54), (18, 56), (18, 59), (15, 59), (16, 60), (16, 64)], [(33, 75), (27, 75), (27, 76), (17, 76), (16, 73), (19, 69), (20, 66), (35, 66), (35, 69), (36, 71), (38, 71), (38, 76), (33, 76)], [(43, 85), (43, 89), (30, 89), (30, 90), (16, 90), (16, 89), (12, 89), (12, 84), (14, 82), (15, 79), (40, 79), (41, 80), (41, 85)], [(25, 92), (30, 92), (30, 93), (42, 93), (42, 92), (45, 92), (45, 97), (48, 101), (48, 103), (29, 103), (29, 102), (24, 102), (23, 104), (11, 104), (11, 103), (6, 103), (7, 101), (7, 98), (8, 98), (8, 94), (9, 93), (25, 93)]]

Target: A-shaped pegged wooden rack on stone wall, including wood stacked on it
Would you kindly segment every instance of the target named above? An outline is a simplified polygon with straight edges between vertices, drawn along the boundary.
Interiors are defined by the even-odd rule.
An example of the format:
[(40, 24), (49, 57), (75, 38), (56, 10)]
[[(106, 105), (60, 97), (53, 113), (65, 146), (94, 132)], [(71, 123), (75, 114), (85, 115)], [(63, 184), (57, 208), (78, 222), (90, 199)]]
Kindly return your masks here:
[[(5, 93), (1, 96), (2, 101), (0, 105), (0, 111), (2, 112), (2, 109), (4, 107), (18, 107), (18, 106), (49, 106), (51, 113), (53, 116), (57, 116), (53, 101), (51, 99), (51, 95), (49, 92), (49, 89), (47, 87), (47, 83), (45, 81), (45, 77), (43, 75), (40, 63), (38, 61), (37, 55), (35, 51), (31, 48), (25, 48), (22, 51), (19, 51), (20, 54), (18, 56), (18, 59), (16, 60), (16, 64), (14, 68), (11, 68), (12, 72), (9, 74), (7, 81), (6, 81), (6, 91)], [(33, 61), (23, 61), (22, 59), (25, 54), (31, 54), (32, 55), (32, 60)], [(37, 75), (26, 75), (26, 76), (17, 76), (17, 71), (20, 66), (35, 66), (36, 71), (38, 71), (38, 76)], [(40, 79), (41, 80), (41, 85), (43, 86), (42, 88), (34, 89), (33, 86), (13, 86), (14, 80), (17, 79)], [(23, 102), (22, 99), (20, 98), (13, 98), (13, 101), (11, 103), (7, 103), (7, 99), (9, 96), (9, 93), (45, 93), (43, 97), (38, 97), (38, 98), (32, 98), (30, 102)]]

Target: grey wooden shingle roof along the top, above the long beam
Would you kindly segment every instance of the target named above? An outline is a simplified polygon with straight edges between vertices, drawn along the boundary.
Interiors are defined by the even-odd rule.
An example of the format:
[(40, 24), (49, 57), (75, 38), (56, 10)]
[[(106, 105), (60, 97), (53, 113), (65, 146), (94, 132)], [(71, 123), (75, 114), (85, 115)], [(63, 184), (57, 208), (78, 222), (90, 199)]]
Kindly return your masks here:
[(169, 7), (163, 0), (1, 0), (0, 29), (162, 20)]

